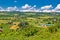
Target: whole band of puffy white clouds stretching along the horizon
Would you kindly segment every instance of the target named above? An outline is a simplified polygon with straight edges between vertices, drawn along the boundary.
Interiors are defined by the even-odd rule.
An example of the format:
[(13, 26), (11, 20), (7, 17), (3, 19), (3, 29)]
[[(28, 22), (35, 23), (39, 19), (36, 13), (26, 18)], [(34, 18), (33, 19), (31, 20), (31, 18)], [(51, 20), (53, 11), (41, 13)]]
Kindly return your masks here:
[(20, 11), (20, 12), (60, 12), (60, 4), (58, 4), (54, 9), (52, 5), (46, 5), (40, 8), (36, 8), (36, 5), (28, 5), (25, 4), (21, 8), (16, 6), (14, 7), (7, 7), (6, 9), (0, 7), (0, 11)]

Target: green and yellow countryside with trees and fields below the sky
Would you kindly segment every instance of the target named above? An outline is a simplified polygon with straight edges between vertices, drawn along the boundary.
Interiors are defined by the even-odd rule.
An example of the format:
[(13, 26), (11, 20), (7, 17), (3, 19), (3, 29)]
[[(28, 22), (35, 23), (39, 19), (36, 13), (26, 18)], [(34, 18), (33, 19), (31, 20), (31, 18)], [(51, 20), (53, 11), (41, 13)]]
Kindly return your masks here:
[(0, 12), (0, 40), (60, 40), (60, 13)]

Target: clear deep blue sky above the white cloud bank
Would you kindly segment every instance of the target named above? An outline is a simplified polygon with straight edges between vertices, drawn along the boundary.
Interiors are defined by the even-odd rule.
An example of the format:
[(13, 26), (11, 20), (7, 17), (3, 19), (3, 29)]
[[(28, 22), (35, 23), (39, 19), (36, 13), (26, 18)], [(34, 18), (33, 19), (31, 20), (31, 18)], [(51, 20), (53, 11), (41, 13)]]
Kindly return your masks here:
[(60, 4), (60, 0), (0, 0), (0, 6), (2, 7), (8, 6), (21, 7), (25, 4), (29, 4), (31, 6), (37, 5), (37, 8), (50, 4), (53, 7), (56, 7), (57, 4)]

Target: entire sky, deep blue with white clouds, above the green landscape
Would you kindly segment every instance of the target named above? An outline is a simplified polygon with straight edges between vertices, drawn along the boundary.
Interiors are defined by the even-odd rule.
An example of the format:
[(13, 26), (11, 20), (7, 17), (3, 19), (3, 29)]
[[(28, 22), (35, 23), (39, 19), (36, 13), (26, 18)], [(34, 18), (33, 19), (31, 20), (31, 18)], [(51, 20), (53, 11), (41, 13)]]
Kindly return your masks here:
[(60, 12), (60, 0), (0, 0), (0, 11)]

